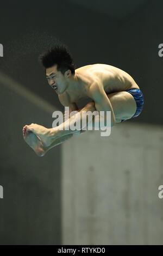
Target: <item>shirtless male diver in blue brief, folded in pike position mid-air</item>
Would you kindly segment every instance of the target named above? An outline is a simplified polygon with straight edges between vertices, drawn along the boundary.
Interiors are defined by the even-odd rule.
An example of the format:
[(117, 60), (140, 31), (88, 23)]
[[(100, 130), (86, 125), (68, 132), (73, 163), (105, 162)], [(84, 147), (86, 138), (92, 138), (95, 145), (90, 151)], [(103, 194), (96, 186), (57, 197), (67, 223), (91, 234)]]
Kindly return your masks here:
[[(78, 111), (82, 121), (83, 111), (110, 111), (110, 126), (137, 117), (143, 109), (143, 94), (134, 79), (121, 69), (106, 64), (93, 64), (74, 69), (74, 62), (67, 47), (57, 44), (39, 57), (46, 71), (49, 85), (58, 94), (60, 103), (69, 107), (69, 114)], [(78, 109), (77, 101), (86, 97), (92, 99)], [(38, 156), (71, 138), (80, 131), (69, 129), (74, 123), (74, 114), (60, 125), (47, 129), (30, 124), (23, 127), (24, 141)], [(95, 119), (94, 119), (95, 120)], [(86, 123), (88, 125), (88, 123)], [(92, 120), (93, 125), (93, 120)], [(71, 126), (72, 127), (72, 126)]]

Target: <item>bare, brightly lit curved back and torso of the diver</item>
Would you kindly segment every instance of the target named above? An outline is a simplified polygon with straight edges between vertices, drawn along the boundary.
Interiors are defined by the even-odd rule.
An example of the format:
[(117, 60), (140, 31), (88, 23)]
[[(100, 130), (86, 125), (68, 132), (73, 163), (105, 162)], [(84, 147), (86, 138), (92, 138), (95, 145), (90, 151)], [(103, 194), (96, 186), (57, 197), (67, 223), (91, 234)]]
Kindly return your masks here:
[(69, 98), (69, 102), (78, 102), (81, 99), (90, 97), (89, 87), (95, 81), (99, 81), (105, 93), (122, 92), (129, 89), (139, 89), (134, 79), (127, 72), (106, 64), (93, 64), (82, 66), (76, 69), (76, 75), (82, 81), (80, 92), (71, 92), (63, 95)]

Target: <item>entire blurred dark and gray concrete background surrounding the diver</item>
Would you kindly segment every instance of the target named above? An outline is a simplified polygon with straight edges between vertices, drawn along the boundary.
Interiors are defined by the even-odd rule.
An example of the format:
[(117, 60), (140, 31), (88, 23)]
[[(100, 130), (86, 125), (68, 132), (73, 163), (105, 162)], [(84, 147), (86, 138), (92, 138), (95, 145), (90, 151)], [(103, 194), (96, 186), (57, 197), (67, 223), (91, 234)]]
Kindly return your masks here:
[[(1, 3), (1, 245), (163, 244), (162, 8), (161, 0)], [(37, 61), (56, 39), (76, 69), (128, 72), (145, 105), (109, 137), (87, 131), (37, 157), (22, 127), (52, 127), (53, 111), (64, 112)]]

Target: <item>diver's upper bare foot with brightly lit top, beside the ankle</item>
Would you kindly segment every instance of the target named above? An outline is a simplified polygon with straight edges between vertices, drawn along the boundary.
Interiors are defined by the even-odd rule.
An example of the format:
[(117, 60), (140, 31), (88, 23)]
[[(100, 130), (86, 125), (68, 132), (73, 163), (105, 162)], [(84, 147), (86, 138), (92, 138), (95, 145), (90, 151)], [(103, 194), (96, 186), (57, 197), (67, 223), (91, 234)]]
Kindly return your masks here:
[(49, 136), (51, 129), (47, 129), (46, 127), (38, 124), (30, 124), (26, 126), (27, 131), (33, 132), (35, 135), (40, 137), (41, 142), (45, 147), (49, 147), (49, 145), (52, 144), (52, 139)]

